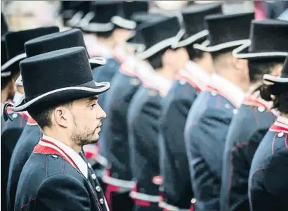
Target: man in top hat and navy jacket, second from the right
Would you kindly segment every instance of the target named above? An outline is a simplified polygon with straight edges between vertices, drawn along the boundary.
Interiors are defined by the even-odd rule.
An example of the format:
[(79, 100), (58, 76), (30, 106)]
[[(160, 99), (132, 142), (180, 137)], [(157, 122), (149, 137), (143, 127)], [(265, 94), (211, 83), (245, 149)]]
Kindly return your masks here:
[(284, 44), (287, 36), (288, 23), (254, 20), (250, 41), (233, 51), (236, 58), (248, 60), (250, 89), (226, 136), (221, 210), (249, 210), (247, 189), (252, 158), (276, 118), (271, 103), (264, 101), (258, 90), (263, 86), (264, 74), (280, 75), (288, 51)]

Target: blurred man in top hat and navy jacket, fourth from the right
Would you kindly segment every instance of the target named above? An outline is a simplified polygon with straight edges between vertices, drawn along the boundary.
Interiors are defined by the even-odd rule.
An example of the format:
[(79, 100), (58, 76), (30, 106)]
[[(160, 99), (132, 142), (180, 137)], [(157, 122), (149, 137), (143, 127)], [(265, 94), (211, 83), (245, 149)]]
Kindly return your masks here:
[(188, 54), (178, 78), (163, 99), (163, 111), (159, 121), (160, 173), (163, 177), (164, 200), (159, 207), (164, 210), (189, 210), (193, 197), (184, 143), (184, 127), (190, 107), (208, 84), (213, 71), (211, 55), (193, 49), (193, 44), (202, 43), (208, 34), (204, 17), (222, 13), (221, 4), (190, 6), (181, 11), (185, 32), (181, 32), (174, 48)]

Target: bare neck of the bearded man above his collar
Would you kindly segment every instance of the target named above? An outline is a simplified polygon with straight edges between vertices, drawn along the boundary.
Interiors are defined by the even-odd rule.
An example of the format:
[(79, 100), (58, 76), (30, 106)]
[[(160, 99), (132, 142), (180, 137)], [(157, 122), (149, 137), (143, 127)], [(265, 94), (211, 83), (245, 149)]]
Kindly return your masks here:
[(61, 141), (65, 143), (67, 146), (70, 146), (74, 151), (77, 153), (81, 152), (81, 146), (77, 145), (74, 143), (71, 139), (70, 136), (67, 136), (67, 134), (63, 131), (60, 131), (59, 129), (51, 129), (51, 128), (46, 128), (43, 130), (43, 133), (46, 136), (51, 137), (52, 139), (56, 139), (58, 141)]

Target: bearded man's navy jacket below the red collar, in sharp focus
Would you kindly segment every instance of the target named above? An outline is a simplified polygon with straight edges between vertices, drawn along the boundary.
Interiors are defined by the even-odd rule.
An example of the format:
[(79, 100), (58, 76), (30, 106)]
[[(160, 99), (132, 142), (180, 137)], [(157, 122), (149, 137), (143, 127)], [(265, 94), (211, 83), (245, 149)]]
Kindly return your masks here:
[(103, 192), (59, 155), (32, 153), (19, 179), (15, 210), (105, 211), (103, 199)]

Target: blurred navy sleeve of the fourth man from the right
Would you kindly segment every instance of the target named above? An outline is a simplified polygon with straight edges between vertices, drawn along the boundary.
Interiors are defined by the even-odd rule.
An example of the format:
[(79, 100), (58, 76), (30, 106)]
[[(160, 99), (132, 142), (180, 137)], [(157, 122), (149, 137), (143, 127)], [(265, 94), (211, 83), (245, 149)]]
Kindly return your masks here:
[[(190, 171), (184, 142), (185, 120), (190, 110), (190, 102), (187, 99), (178, 99), (171, 103), (160, 124), (160, 133), (163, 136), (163, 139), (160, 139), (163, 142), (160, 151), (162, 148), (166, 148), (166, 151), (160, 153), (162, 157), (160, 166), (163, 170), (164, 180), (169, 182), (170, 192), (175, 194), (176, 201), (185, 194), (186, 186), (179, 186), (177, 181), (169, 180), (177, 179), (181, 181), (181, 184), (185, 184), (186, 181), (190, 182)], [(167, 160), (171, 160), (172, 163), (168, 163)], [(171, 174), (174, 174), (174, 177), (171, 177)]]

